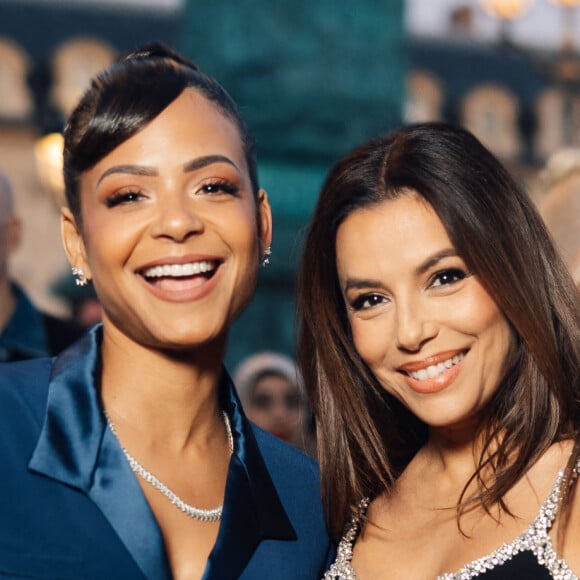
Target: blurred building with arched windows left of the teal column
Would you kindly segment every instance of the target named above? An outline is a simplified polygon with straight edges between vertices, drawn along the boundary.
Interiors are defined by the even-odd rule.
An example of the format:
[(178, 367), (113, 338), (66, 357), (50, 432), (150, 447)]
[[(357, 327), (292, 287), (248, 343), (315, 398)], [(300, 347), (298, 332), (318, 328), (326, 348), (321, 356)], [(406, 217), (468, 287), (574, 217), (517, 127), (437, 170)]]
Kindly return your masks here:
[(117, 52), (157, 36), (171, 39), (177, 29), (176, 14), (0, 0), (0, 171), (12, 182), (23, 223), (11, 267), (49, 312), (67, 314), (51, 287), (68, 266), (55, 201), (62, 195), (59, 144), (41, 138), (61, 130), (87, 80)]

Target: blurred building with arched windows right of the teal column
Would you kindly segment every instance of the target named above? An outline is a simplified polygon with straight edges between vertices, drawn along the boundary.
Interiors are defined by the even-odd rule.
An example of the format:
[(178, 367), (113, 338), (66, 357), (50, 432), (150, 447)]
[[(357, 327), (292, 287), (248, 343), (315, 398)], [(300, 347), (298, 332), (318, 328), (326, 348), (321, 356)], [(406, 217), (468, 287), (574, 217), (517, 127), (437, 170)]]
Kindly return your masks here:
[(580, 146), (580, 54), (572, 45), (518, 46), (507, 36), (479, 41), (472, 12), (460, 4), (444, 36), (408, 39), (403, 119), (465, 126), (537, 198), (550, 155)]

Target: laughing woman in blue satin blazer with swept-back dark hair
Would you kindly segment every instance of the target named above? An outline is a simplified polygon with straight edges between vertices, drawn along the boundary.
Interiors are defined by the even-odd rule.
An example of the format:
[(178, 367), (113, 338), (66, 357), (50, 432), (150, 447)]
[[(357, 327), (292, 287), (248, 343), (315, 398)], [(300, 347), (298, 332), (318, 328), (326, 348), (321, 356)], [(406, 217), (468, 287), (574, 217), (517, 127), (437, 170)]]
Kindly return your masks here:
[(64, 247), (102, 324), (0, 367), (0, 577), (320, 576), (318, 468), (248, 421), (223, 367), (272, 239), (238, 107), (149, 45), (64, 138)]

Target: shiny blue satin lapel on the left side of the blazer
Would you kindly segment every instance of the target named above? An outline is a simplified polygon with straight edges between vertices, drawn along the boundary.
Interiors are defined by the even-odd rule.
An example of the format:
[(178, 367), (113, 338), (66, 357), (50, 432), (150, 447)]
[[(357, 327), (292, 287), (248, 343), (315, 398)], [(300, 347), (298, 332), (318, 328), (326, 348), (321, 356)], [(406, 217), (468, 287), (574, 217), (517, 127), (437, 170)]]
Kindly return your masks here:
[(97, 327), (55, 361), (46, 418), (29, 468), (85, 493), (144, 576), (169, 580), (159, 526), (101, 411), (95, 386), (99, 344)]

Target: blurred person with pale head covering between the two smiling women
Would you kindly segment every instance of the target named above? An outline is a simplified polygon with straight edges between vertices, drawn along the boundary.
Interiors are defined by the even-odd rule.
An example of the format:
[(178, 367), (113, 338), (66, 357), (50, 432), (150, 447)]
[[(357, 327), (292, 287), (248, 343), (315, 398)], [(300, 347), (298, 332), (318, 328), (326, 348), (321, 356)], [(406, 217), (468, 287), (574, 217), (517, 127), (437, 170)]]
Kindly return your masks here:
[(305, 447), (308, 405), (290, 357), (257, 353), (238, 365), (233, 379), (248, 419), (282, 441)]

